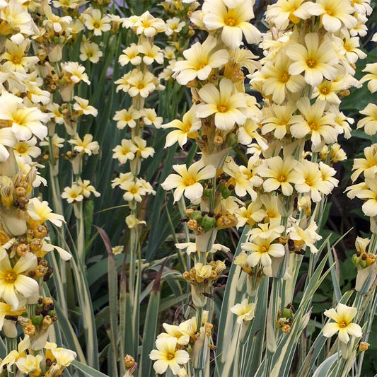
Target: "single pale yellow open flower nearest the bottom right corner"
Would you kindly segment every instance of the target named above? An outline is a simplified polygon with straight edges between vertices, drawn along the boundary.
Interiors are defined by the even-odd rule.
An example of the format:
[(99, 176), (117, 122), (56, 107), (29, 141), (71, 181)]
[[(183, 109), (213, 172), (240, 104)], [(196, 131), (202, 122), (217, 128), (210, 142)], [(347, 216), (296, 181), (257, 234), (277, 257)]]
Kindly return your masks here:
[(328, 309), (324, 314), (335, 322), (326, 323), (326, 325), (323, 326), (323, 335), (325, 335), (325, 337), (332, 337), (336, 332), (339, 332), (339, 340), (343, 343), (349, 342), (349, 335), (361, 337), (363, 335), (361, 327), (351, 322), (356, 313), (357, 308), (344, 305), (343, 303), (338, 303), (336, 310), (333, 308)]

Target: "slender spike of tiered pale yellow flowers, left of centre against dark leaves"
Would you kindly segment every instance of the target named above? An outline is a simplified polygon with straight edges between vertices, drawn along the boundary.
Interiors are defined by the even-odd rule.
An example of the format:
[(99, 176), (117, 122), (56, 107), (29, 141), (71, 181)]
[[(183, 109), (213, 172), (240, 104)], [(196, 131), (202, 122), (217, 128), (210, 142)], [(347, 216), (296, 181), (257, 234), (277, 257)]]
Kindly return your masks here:
[[(124, 190), (123, 198), (129, 203), (132, 219), (137, 224), (137, 203), (146, 195), (155, 194), (149, 182), (139, 178), (141, 161), (154, 155), (154, 149), (146, 146), (143, 139), (148, 126), (160, 128), (162, 118), (157, 116), (156, 110), (146, 108), (146, 101), (154, 91), (162, 91), (160, 79), (153, 74), (153, 64), (163, 64), (164, 54), (154, 38), (158, 33), (166, 32), (166, 24), (161, 18), (155, 18), (146, 11), (141, 16), (124, 18), (122, 26), (131, 29), (138, 37), (137, 43), (132, 43), (123, 50), (119, 57), (122, 66), (132, 66), (121, 79), (115, 81), (117, 91), (124, 91), (132, 98), (132, 105), (115, 113), (118, 129), (127, 131), (127, 138), (122, 139), (120, 145), (113, 149), (113, 158), (117, 158), (121, 165), (129, 163), (129, 173), (121, 173), (119, 178), (112, 180), (112, 187)], [(127, 127), (127, 128), (126, 128)], [(127, 219), (130, 219), (127, 216)], [(132, 226), (129, 226), (129, 223)], [(134, 228), (135, 221), (128, 221), (127, 226)]]

